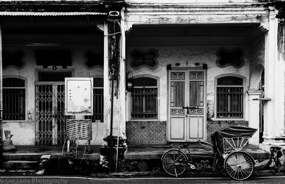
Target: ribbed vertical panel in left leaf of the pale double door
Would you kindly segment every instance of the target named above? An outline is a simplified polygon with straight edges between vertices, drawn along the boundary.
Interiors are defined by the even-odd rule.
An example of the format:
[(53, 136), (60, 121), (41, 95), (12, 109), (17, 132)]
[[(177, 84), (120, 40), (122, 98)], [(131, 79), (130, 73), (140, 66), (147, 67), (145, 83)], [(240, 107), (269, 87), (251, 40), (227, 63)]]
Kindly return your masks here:
[(185, 82), (174, 82), (174, 107), (184, 107)]

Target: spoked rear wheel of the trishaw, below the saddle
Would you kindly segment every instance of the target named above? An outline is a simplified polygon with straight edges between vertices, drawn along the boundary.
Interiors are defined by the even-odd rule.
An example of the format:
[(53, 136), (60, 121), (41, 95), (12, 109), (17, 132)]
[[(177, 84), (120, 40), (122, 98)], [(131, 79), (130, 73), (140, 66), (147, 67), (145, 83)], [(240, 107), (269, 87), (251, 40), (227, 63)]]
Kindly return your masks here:
[(162, 168), (170, 176), (179, 176), (187, 168), (187, 157), (179, 149), (170, 149), (162, 157)]

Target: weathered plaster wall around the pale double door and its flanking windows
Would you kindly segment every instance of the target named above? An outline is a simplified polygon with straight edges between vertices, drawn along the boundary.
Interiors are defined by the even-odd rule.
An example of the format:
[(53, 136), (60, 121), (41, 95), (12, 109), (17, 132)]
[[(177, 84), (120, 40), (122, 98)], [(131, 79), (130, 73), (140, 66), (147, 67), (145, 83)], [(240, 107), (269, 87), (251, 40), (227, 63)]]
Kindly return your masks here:
[[(227, 46), (229, 50), (234, 49), (238, 46)], [(240, 47), (240, 46), (239, 46)], [(195, 67), (195, 63), (200, 63), (199, 66), (203, 66), (203, 64), (207, 64), (207, 118), (210, 120), (213, 118), (214, 114), (214, 78), (220, 74), (239, 74), (241, 76), (246, 77), (246, 89), (248, 89), (249, 85), (249, 62), (250, 62), (250, 47), (241, 47), (245, 51), (245, 65), (242, 68), (235, 68), (233, 66), (227, 66), (225, 68), (219, 68), (216, 65), (216, 51), (220, 48), (219, 46), (173, 46), (173, 47), (128, 47), (127, 52), (130, 53), (133, 49), (139, 49), (142, 51), (149, 50), (150, 48), (154, 48), (158, 52), (158, 66), (154, 69), (148, 68), (139, 68), (137, 70), (133, 70), (130, 66), (131, 58), (129, 54), (127, 55), (127, 71), (132, 71), (133, 76), (137, 75), (152, 75), (156, 76), (160, 79), (159, 84), (159, 96), (160, 96), (160, 106), (158, 115), (158, 121), (166, 121), (167, 120), (167, 70), (166, 66), (171, 64), (172, 67), (175, 66), (175, 63), (180, 63), (178, 67)], [(188, 64), (186, 64), (188, 63)], [(245, 90), (246, 90), (245, 89)], [(130, 120), (129, 117), (129, 98), (130, 92), (128, 92), (126, 100), (126, 121)], [(245, 120), (248, 119), (248, 96), (245, 97)]]

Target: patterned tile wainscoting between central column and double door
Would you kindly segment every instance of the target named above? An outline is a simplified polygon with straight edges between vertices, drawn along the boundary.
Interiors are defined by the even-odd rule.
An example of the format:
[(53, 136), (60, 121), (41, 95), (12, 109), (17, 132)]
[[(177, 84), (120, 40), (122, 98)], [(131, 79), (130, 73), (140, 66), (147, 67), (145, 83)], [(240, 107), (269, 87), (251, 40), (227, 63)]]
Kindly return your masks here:
[(167, 144), (166, 121), (126, 122), (128, 145)]

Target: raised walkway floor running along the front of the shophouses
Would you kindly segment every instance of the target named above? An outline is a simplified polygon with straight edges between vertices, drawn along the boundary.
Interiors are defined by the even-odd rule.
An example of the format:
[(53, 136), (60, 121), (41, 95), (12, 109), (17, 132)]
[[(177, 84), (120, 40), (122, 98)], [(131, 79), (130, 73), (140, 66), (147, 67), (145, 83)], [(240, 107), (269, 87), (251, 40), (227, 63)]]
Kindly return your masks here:
[[(170, 145), (127, 145), (127, 154), (125, 159), (128, 160), (148, 160), (148, 159), (161, 159), (163, 153), (169, 149)], [(66, 146), (62, 152), (62, 146), (52, 145), (52, 146), (36, 146), (36, 145), (16, 145), (16, 151), (4, 151), (3, 159), (5, 161), (10, 160), (33, 160), (41, 157), (42, 155), (51, 155), (51, 158), (60, 158), (62, 154), (66, 154)], [(178, 144), (173, 145), (174, 148), (180, 148)], [(207, 147), (200, 144), (191, 144), (191, 148), (206, 151), (212, 153), (213, 151)], [(77, 158), (86, 158), (89, 160), (100, 160), (100, 148), (101, 145), (92, 145), (91, 151), (87, 152), (85, 145), (78, 145), (77, 148)], [(185, 149), (181, 149), (184, 151)], [(266, 159), (270, 155), (268, 152), (259, 149), (256, 145), (246, 145), (242, 149), (243, 151), (249, 153), (254, 159)], [(85, 152), (84, 152), (85, 151)], [(186, 152), (188, 156), (188, 151)], [(195, 158), (199, 156), (207, 156), (207, 153), (193, 151), (191, 150), (191, 155), (196, 155)], [(202, 158), (202, 157), (200, 157)]]

